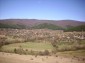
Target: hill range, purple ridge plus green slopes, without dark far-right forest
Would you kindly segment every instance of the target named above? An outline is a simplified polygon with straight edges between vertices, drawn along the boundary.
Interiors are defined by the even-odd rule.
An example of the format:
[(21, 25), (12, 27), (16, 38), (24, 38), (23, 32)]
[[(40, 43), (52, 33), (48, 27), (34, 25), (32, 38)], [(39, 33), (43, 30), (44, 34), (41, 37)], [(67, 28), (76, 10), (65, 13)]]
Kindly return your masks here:
[[(48, 29), (68, 29), (84, 26), (85, 22), (75, 20), (37, 20), (37, 19), (4, 19), (0, 20), (0, 28), (48, 28)], [(75, 30), (75, 29), (74, 29)]]

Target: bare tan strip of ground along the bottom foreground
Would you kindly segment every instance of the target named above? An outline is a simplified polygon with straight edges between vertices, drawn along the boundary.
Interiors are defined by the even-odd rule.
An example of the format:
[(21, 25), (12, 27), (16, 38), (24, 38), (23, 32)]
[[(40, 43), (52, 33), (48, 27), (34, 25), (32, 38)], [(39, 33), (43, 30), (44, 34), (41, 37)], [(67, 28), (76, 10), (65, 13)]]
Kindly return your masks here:
[(0, 63), (85, 63), (85, 58), (32, 56), (0, 52)]

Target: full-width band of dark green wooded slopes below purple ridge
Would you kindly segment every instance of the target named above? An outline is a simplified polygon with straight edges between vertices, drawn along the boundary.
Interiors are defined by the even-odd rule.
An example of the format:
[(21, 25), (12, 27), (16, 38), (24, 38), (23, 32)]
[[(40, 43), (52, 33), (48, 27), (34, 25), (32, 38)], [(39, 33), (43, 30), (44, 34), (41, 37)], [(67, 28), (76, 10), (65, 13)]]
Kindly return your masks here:
[(67, 28), (62, 28), (53, 24), (43, 23), (35, 26), (26, 26), (22, 24), (2, 24), (0, 23), (0, 28), (12, 28), (12, 29), (52, 29), (52, 30), (64, 30), (64, 31), (85, 31), (85, 25), (80, 26), (68, 26)]

